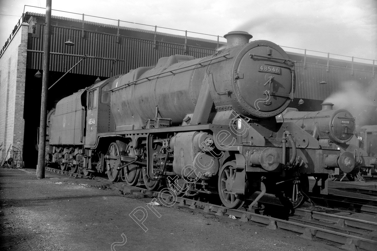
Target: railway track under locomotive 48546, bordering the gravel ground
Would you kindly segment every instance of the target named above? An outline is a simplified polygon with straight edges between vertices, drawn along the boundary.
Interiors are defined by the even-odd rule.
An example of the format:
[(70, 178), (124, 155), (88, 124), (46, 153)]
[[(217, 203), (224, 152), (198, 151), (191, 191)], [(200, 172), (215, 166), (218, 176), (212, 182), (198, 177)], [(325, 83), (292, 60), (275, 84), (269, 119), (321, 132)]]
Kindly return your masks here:
[[(51, 167), (46, 167), (49, 172), (69, 175), (76, 178), (93, 178), (78, 173), (71, 173)], [(106, 178), (95, 177), (95, 180), (109, 182)], [(254, 212), (246, 208), (229, 209), (221, 205), (204, 201), (175, 197), (170, 193), (154, 192), (140, 187), (130, 187), (124, 183), (119, 184), (119, 189), (125, 194), (138, 194), (141, 197), (150, 197), (164, 200), (167, 204), (177, 204), (179, 207), (217, 216), (234, 216), (241, 222), (256, 222), (265, 225), (270, 230), (284, 229), (300, 234), (304, 239), (322, 239), (346, 250), (377, 250), (377, 222), (365, 221), (342, 215), (334, 215), (317, 211), (318, 208), (296, 209), (295, 214), (287, 219), (274, 218), (260, 213), (260, 208)], [(105, 188), (105, 186), (104, 186)], [(265, 206), (266, 203), (263, 203)], [(327, 208), (328, 209), (328, 208)]]

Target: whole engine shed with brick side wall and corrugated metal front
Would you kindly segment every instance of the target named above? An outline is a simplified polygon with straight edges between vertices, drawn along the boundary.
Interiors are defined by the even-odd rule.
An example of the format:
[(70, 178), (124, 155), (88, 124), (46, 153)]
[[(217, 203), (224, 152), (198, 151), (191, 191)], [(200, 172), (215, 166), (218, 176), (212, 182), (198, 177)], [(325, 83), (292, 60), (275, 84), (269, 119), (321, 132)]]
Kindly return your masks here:
[[(26, 12), (0, 50), (0, 144), (4, 142), (0, 158), (5, 157), (10, 145), (23, 148), (27, 167), (35, 167), (37, 162), (42, 82), (38, 76), (43, 74), (44, 27), (44, 14)], [(184, 36), (162, 33), (157, 32), (157, 27), (154, 31), (124, 27), (119, 21), (118, 25), (110, 25), (52, 16), (48, 85), (51, 87), (55, 82), (56, 85), (49, 90), (48, 110), (58, 100), (98, 80), (138, 67), (151, 67), (159, 58), (176, 54), (195, 58), (212, 55), (225, 44), (219, 41), (219, 36), (213, 38), (188, 37), (187, 31)], [(353, 58), (352, 61), (330, 59), (307, 55), (306, 50), (305, 53), (288, 52), (288, 55), (297, 61), (296, 91), (291, 107), (301, 111), (320, 110), (323, 100), (352, 85), (366, 94), (363, 101), (375, 112), (374, 60), (365, 64), (354, 62)], [(76, 101), (74, 105), (87, 102)], [(72, 116), (80, 119), (77, 107), (72, 112)]]

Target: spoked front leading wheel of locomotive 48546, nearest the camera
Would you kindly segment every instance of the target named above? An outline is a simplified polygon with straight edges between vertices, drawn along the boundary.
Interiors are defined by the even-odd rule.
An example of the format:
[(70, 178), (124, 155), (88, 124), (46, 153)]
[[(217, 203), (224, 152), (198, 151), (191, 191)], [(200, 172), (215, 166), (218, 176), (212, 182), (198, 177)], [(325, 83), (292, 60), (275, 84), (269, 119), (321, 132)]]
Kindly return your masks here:
[(236, 163), (234, 161), (227, 162), (223, 165), (219, 172), (219, 196), (222, 204), (227, 208), (240, 208), (245, 203), (245, 196), (231, 192), (236, 175)]

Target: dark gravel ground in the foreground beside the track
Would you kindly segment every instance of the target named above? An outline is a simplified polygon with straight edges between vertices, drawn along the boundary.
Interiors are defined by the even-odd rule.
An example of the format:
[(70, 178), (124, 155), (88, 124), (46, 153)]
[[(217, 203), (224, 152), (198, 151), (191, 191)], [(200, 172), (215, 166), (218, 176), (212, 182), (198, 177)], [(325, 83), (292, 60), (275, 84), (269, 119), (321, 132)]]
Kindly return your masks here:
[[(187, 208), (147, 207), (151, 198), (123, 195), (103, 181), (35, 169), (0, 169), (1, 250), (213, 251), (339, 250), (285, 230), (202, 214)], [(99, 187), (99, 188), (98, 188)], [(102, 186), (103, 188), (104, 186)], [(136, 211), (140, 209), (139, 211)], [(129, 214), (144, 217), (144, 231)], [(140, 223), (139, 223), (140, 224)], [(141, 225), (141, 224), (140, 224)]]

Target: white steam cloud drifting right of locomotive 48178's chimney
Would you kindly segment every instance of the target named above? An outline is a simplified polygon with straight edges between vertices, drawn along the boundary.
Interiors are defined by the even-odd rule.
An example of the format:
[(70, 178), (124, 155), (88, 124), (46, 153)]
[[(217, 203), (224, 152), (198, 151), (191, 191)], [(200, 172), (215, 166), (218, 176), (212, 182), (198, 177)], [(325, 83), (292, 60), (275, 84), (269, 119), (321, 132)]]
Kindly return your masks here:
[(342, 91), (326, 98), (323, 102), (334, 104), (333, 109), (348, 110), (356, 117), (356, 126), (377, 125), (377, 109), (375, 106), (376, 86), (371, 86), (367, 91), (357, 89), (360, 84), (355, 81), (342, 83)]

